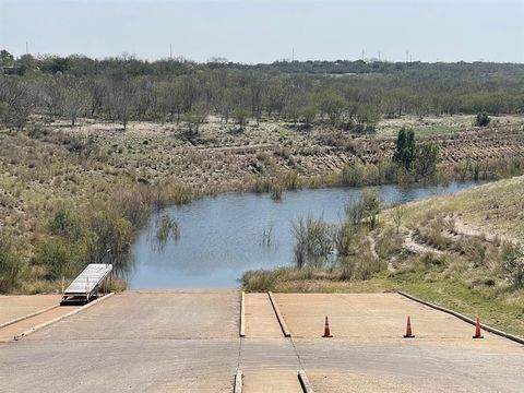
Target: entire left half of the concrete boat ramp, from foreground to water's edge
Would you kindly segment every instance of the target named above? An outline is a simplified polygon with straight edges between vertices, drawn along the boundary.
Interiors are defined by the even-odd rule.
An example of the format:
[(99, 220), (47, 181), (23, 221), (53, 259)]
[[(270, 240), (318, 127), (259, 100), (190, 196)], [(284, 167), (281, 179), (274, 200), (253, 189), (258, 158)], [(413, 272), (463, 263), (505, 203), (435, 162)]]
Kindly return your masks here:
[(235, 290), (115, 295), (0, 343), (0, 392), (231, 392), (239, 298)]

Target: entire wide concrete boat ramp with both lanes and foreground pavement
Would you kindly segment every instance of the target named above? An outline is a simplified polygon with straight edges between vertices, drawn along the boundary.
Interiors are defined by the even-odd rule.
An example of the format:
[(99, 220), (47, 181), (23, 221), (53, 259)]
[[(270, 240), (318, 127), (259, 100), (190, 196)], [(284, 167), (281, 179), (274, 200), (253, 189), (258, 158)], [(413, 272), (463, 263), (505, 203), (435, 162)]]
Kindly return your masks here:
[[(16, 310), (31, 311), (9, 311), (7, 305), (23, 303), (15, 298), (0, 297), (0, 325)], [(524, 386), (523, 345), (488, 332), (473, 340), (475, 326), (398, 294), (126, 291), (75, 310), (16, 342), (16, 323), (0, 327), (0, 334), (11, 329), (0, 343), (0, 392), (522, 392)], [(416, 337), (405, 340), (408, 314)], [(325, 315), (332, 338), (321, 337)]]

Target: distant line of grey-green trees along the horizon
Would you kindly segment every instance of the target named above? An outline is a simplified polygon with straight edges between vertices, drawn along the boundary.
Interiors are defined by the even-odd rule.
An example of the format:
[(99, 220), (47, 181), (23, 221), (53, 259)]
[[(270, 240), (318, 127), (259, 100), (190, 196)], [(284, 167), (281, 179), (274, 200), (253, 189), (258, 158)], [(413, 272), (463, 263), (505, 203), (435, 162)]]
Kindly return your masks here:
[(14, 58), (0, 51), (0, 121), (32, 114), (74, 126), (90, 117), (183, 122), (198, 133), (209, 115), (242, 128), (281, 118), (369, 133), (403, 115), (524, 112), (524, 64), (279, 61), (247, 66), (210, 59), (148, 62), (123, 56)]

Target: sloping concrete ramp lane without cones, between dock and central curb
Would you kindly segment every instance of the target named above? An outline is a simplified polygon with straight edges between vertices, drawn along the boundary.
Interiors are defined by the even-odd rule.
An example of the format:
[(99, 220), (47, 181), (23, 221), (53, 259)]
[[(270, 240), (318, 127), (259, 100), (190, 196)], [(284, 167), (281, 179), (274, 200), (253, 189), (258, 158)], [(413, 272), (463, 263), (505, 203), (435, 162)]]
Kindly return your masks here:
[(239, 319), (236, 290), (126, 291), (24, 340), (235, 338)]

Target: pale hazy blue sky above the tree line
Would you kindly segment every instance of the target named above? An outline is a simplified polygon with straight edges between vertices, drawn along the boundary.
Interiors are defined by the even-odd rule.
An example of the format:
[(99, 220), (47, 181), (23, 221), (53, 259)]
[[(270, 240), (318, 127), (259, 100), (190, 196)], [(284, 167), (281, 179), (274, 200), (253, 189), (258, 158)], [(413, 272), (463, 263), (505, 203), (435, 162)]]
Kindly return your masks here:
[(524, 0), (0, 0), (14, 55), (524, 62)]

